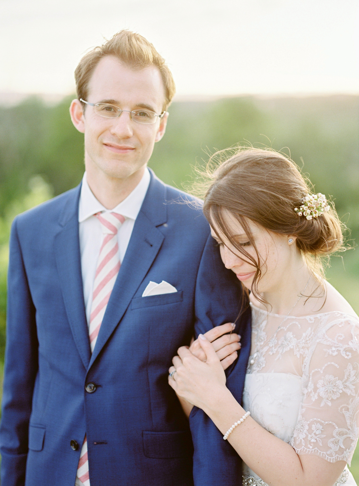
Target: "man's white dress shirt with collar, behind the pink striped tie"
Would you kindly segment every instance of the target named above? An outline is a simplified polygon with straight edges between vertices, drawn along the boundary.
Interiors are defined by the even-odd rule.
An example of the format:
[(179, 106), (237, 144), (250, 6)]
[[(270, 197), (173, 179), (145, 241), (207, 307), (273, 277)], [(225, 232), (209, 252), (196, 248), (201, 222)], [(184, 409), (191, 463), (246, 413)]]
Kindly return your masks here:
[(85, 300), (87, 323), (89, 323), (90, 320), (93, 285), (98, 255), (102, 243), (101, 223), (98, 221), (96, 216), (94, 216), (94, 214), (98, 213), (99, 211), (114, 211), (118, 214), (122, 214), (122, 216), (126, 218), (117, 232), (119, 257), (120, 261), (122, 262), (131, 238), (135, 220), (140, 212), (142, 203), (147, 193), (149, 181), (150, 175), (148, 169), (146, 168), (141, 181), (126, 197), (126, 199), (115, 208), (106, 209), (96, 199), (91, 191), (87, 183), (86, 172), (83, 174), (79, 202), (79, 236), (83, 298)]

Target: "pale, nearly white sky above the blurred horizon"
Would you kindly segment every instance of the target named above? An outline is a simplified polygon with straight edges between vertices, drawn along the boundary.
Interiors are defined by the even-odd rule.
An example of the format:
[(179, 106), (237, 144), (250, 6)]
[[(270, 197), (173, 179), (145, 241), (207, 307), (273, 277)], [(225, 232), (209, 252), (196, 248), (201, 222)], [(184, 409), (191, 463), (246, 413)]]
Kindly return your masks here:
[(0, 93), (75, 91), (90, 47), (147, 37), (179, 96), (359, 92), (357, 0), (0, 0)]

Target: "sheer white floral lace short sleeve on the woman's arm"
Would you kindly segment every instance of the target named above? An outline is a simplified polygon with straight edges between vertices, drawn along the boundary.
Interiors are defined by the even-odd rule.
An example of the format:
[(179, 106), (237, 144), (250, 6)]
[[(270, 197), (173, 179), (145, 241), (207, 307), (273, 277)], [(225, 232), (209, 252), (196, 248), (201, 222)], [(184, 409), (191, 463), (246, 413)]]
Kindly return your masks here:
[(303, 374), (291, 445), (350, 465), (359, 436), (359, 322), (338, 318), (317, 332)]

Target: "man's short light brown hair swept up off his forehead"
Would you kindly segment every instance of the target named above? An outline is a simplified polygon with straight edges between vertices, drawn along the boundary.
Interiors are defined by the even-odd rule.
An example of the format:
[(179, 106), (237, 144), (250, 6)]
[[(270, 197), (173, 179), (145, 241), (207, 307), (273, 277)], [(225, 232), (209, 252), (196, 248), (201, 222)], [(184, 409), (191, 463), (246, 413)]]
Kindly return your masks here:
[(165, 64), (163, 57), (156, 51), (153, 44), (142, 35), (129, 30), (122, 30), (115, 34), (102, 46), (95, 47), (85, 54), (75, 69), (77, 97), (87, 101), (88, 84), (98, 62), (104, 56), (113, 55), (134, 69), (156, 66), (162, 77), (166, 110), (175, 95), (176, 87), (171, 71)]

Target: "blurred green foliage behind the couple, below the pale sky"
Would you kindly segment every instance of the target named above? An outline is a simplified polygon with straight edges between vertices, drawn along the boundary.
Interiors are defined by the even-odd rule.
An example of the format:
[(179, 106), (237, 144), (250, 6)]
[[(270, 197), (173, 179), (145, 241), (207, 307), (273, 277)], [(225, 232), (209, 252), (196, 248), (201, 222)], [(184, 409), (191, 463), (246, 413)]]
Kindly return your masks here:
[[(71, 99), (49, 106), (30, 98), (0, 107), (0, 369), (11, 222), (82, 178), (83, 135), (70, 121)], [(271, 146), (290, 154), (317, 192), (332, 196), (352, 244), (359, 237), (358, 96), (177, 102), (169, 112), (165, 137), (149, 163), (164, 182), (181, 188), (193, 166), (217, 149), (241, 142)], [(359, 312), (359, 250), (332, 259), (327, 277)], [(351, 469), (359, 476), (359, 450)]]

